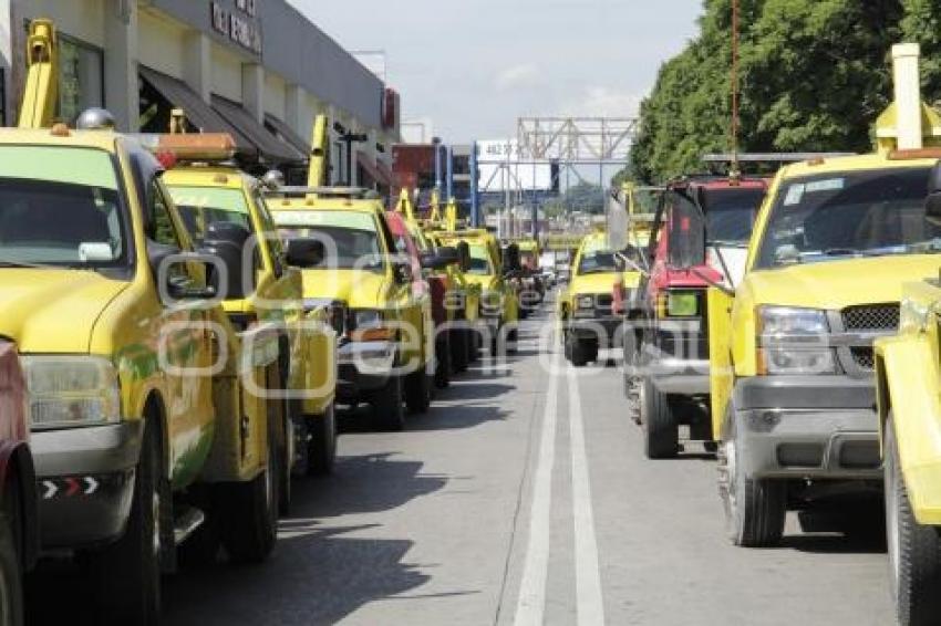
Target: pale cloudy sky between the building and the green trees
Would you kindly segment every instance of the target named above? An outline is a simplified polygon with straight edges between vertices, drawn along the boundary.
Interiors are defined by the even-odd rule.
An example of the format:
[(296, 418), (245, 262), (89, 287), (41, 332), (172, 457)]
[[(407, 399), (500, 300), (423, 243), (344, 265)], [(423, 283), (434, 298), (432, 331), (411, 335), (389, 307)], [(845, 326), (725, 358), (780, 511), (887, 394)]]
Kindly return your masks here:
[(695, 33), (702, 0), (289, 0), (348, 50), (384, 50), (403, 119), (447, 143), (520, 116), (627, 116)]

